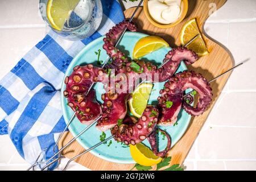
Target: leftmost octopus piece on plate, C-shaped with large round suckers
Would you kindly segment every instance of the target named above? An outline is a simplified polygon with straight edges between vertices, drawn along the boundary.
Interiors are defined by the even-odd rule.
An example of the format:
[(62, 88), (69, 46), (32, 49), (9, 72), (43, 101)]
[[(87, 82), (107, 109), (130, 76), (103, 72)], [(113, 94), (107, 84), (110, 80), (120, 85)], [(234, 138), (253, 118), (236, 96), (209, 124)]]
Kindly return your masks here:
[(76, 66), (72, 74), (65, 78), (64, 97), (68, 99), (68, 105), (76, 112), (81, 123), (89, 124), (101, 114), (101, 106), (95, 100), (95, 91), (91, 90), (87, 96), (85, 94), (93, 82), (104, 81), (104, 77), (100, 80), (103, 73), (104, 69), (88, 64)]

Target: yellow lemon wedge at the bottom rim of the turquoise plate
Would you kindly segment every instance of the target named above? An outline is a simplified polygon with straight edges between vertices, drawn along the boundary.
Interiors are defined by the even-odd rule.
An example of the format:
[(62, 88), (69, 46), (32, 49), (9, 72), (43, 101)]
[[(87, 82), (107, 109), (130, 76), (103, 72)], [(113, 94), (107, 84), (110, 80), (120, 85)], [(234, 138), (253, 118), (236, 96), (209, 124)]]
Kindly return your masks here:
[(162, 161), (162, 158), (156, 156), (150, 148), (138, 143), (135, 146), (130, 144), (130, 152), (133, 160), (142, 166), (153, 166)]

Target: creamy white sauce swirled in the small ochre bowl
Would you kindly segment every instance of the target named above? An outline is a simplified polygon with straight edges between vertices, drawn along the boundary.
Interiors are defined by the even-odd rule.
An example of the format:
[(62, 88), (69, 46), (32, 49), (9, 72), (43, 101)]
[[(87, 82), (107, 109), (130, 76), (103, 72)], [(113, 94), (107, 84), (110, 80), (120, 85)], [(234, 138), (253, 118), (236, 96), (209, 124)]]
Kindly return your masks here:
[(181, 0), (150, 0), (148, 11), (158, 23), (174, 23), (181, 13)]

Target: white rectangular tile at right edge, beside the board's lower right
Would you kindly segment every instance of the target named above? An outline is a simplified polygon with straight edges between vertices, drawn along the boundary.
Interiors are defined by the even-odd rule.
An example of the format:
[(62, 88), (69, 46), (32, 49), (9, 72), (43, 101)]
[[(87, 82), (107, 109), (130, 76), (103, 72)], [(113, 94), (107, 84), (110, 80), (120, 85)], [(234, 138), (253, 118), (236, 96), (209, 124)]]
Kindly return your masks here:
[(198, 137), (200, 159), (256, 159), (256, 128), (212, 127)]

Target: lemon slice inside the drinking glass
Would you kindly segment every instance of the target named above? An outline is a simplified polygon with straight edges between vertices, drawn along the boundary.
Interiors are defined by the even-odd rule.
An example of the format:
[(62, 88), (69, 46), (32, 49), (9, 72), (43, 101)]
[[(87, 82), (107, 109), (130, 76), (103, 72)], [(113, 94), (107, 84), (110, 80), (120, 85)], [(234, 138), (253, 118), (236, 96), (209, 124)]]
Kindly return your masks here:
[(56, 30), (62, 30), (65, 22), (80, 0), (49, 0), (46, 14), (49, 23)]

